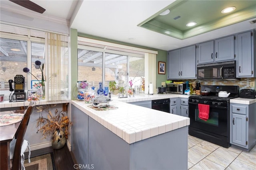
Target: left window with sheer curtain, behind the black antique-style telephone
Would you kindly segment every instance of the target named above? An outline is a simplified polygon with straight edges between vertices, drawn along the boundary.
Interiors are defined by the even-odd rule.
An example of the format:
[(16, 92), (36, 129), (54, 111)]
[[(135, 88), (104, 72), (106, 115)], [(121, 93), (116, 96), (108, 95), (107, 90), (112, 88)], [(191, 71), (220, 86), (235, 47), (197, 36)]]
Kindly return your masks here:
[[(42, 72), (35, 65), (37, 60), (44, 63), (43, 74), (46, 78), (46, 89), (48, 89), (46, 90), (48, 92), (46, 100), (69, 98), (69, 56), (66, 35), (54, 34), (47, 39), (48, 41), (45, 41), (46, 33), (47, 35), (51, 33), (3, 23), (0, 23), (0, 31), (0, 90), (1, 94), (4, 94), (4, 100), (9, 100), (11, 92), (8, 80), (14, 80), (14, 76), (23, 75), (25, 77), (25, 93), (32, 88), (34, 83), (38, 83), (37, 79), (42, 80)], [(56, 39), (54, 36), (59, 38)], [(51, 44), (49, 41), (53, 43)], [(23, 72), (24, 67), (28, 67), (30, 73), (35, 77)], [(12, 88), (14, 88), (14, 83), (12, 83)]]

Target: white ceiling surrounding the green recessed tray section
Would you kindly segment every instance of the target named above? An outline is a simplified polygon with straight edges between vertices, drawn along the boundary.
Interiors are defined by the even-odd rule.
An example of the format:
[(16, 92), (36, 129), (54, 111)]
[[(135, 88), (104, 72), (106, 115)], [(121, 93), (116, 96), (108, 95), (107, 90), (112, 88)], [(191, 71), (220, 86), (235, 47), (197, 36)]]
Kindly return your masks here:
[[(56, 23), (66, 23), (78, 33), (100, 37), (100, 39), (114, 40), (111, 42), (126, 43), (124, 45), (139, 45), (140, 47), (150, 47), (169, 51), (172, 49), (185, 47), (191, 44), (216, 39), (226, 35), (256, 29), (256, 23), (251, 24), (249, 21), (256, 20), (256, 12), (254, 18), (240, 20), (237, 23), (204, 32), (205, 30), (197, 31), (198, 34), (186, 39), (179, 39), (165, 35), (156, 31), (151, 31), (144, 27), (139, 27), (138, 24), (147, 22), (158, 16), (164, 10), (171, 8), (176, 3), (181, 3), (180, 0), (31, 0), (36, 4), (46, 9), (43, 14), (36, 14), (30, 10), (18, 6), (9, 0), (0, 0), (0, 20), (7, 17), (10, 20), (6, 22), (12, 23), (15, 19), (22, 22), (22, 25), (34, 23), (32, 27), (39, 23), (38, 18), (44, 20), (56, 21)], [(189, 0), (192, 2), (197, 2)], [(208, 2), (219, 4), (223, 0), (198, 0), (204, 4)], [(183, 3), (186, 4), (187, 1)], [(229, 2), (242, 2), (247, 4), (245, 0), (230, 0)], [(248, 1), (256, 3), (256, 0)], [(207, 16), (215, 16), (214, 6), (210, 10), (201, 8), (196, 10), (192, 4), (192, 13), (189, 16), (195, 16), (197, 20), (210, 20)], [(207, 5), (206, 5), (207, 6)], [(252, 5), (253, 8), (253, 5)], [(180, 10), (182, 18), (190, 8)], [(256, 8), (254, 8), (256, 9)], [(205, 11), (206, 14), (197, 14)], [(211, 11), (211, 12), (210, 12)], [(213, 11), (213, 12), (212, 12)], [(216, 10), (217, 11), (217, 10)], [(236, 12), (236, 11), (235, 11)], [(219, 14), (218, 14), (219, 15)], [(240, 14), (238, 14), (240, 16)], [(149, 20), (148, 20), (149, 19)], [(179, 20), (179, 19), (178, 19)], [(176, 21), (178, 21), (176, 20)], [(229, 21), (229, 20), (228, 20)], [(145, 22), (145, 23), (146, 23)], [(199, 22), (199, 21), (198, 21)], [(14, 22), (15, 23), (15, 22)], [(199, 24), (198, 24), (199, 25)], [(196, 25), (196, 27), (198, 26)], [(55, 26), (55, 27), (54, 27)], [(47, 22), (41, 24), (38, 28), (47, 30), (49, 28), (58, 28), (56, 25)], [(68, 27), (67, 27), (68, 28)], [(2, 28), (0, 27), (0, 30)], [(177, 28), (180, 29), (180, 28)], [(65, 29), (69, 31), (69, 29)], [(55, 31), (55, 30), (52, 30)], [(204, 32), (204, 33), (203, 33)], [(66, 32), (62, 32), (66, 33)]]

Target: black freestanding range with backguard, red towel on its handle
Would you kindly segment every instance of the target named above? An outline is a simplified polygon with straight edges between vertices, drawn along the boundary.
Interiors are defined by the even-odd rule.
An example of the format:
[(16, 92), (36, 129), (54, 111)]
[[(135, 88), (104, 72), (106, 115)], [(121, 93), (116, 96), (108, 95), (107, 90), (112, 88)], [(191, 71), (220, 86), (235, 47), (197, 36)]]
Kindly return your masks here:
[[(201, 86), (201, 91), (208, 91), (208, 96), (189, 96), (189, 134), (205, 141), (228, 148), (230, 129), (230, 99), (237, 98), (239, 86)], [(218, 97), (220, 91), (230, 93), (228, 97)], [(209, 106), (208, 120), (199, 118), (198, 104)]]

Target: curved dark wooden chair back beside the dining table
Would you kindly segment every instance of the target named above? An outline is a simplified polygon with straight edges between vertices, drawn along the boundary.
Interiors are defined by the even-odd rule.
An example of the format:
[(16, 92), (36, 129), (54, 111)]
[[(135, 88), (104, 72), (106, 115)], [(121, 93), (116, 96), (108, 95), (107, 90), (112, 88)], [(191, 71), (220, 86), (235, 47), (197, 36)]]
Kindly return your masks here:
[(13, 159), (12, 159), (12, 170), (21, 170), (21, 147), (22, 143), (24, 141), (24, 135), (26, 133), (26, 129), (28, 126), (28, 121), (30, 118), (30, 115), (32, 111), (34, 110), (35, 106), (28, 106), (28, 109), (26, 110), (26, 113), (20, 123), (20, 126), (17, 130), (18, 133), (16, 133), (16, 144), (14, 147), (14, 153), (13, 153)]

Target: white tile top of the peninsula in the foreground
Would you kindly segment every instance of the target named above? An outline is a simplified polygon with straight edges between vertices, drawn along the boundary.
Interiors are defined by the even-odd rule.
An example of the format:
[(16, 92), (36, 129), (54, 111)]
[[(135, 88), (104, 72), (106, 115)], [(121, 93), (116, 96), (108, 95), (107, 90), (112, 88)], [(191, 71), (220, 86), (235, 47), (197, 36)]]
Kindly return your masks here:
[(96, 111), (83, 101), (72, 100), (72, 104), (129, 144), (190, 125), (188, 117), (116, 100), (110, 105), (118, 109), (107, 111)]

